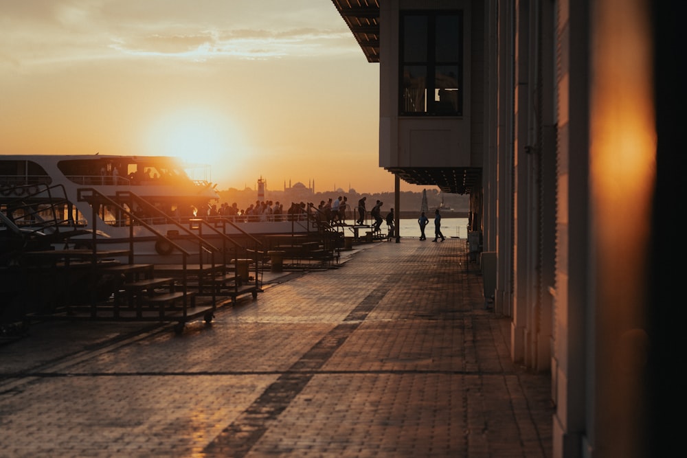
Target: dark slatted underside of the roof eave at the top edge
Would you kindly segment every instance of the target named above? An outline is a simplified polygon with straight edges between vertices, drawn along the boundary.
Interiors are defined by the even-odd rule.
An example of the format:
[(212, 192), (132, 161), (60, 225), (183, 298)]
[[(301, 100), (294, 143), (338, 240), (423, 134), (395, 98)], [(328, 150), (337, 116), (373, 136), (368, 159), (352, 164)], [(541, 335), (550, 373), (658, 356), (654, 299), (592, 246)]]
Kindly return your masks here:
[(368, 62), (379, 62), (379, 0), (332, 0)]

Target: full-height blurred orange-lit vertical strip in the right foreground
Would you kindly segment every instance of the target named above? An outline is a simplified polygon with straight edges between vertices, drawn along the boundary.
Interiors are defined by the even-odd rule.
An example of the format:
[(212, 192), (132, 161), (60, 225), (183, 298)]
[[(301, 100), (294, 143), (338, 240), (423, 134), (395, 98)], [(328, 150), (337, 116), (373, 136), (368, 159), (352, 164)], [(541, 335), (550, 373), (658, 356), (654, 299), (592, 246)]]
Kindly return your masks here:
[(594, 297), (596, 447), (634, 457), (642, 437), (642, 371), (656, 133), (649, 8), (592, 7), (590, 278)]

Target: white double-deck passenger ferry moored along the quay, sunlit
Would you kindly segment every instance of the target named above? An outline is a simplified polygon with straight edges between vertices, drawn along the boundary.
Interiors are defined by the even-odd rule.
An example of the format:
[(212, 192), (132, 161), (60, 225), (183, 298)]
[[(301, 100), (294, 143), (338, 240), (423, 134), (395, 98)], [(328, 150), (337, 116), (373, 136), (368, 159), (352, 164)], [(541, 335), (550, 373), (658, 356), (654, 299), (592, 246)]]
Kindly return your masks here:
[(196, 174), (174, 157), (0, 156), (0, 243), (7, 249), (13, 234), (21, 243), (49, 240), (60, 248), (127, 249), (135, 242), (136, 262), (174, 263), (179, 257), (167, 238), (189, 247), (203, 231), (245, 240), (311, 230), (300, 218), (208, 218), (219, 199), (216, 185), (190, 176)]

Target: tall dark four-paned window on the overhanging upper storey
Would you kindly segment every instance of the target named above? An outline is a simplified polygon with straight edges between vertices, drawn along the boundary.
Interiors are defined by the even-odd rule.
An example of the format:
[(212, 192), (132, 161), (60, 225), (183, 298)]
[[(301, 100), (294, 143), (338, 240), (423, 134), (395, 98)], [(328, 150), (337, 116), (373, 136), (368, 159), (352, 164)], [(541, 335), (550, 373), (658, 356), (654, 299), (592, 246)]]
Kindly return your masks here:
[(462, 115), (462, 25), (458, 11), (401, 12), (401, 115)]

